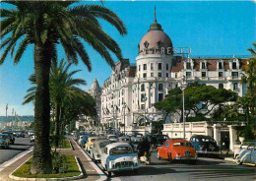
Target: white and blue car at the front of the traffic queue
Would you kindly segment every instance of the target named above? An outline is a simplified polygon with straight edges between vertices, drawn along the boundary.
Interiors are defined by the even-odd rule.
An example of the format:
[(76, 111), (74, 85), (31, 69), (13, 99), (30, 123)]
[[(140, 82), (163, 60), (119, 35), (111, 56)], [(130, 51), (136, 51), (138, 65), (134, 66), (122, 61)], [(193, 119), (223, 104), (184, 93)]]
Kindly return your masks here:
[(105, 146), (101, 154), (101, 165), (111, 176), (112, 171), (134, 170), (139, 169), (137, 154), (132, 150), (128, 143), (112, 143)]

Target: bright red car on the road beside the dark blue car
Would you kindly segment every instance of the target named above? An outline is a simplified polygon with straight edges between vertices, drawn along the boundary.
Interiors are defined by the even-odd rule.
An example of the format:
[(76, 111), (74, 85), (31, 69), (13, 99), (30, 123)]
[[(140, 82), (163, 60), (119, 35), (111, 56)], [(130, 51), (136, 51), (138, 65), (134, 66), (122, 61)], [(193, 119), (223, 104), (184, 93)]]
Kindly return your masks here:
[(170, 162), (179, 159), (195, 163), (197, 159), (196, 150), (183, 139), (166, 140), (161, 147), (157, 148), (157, 156), (159, 159), (168, 159)]

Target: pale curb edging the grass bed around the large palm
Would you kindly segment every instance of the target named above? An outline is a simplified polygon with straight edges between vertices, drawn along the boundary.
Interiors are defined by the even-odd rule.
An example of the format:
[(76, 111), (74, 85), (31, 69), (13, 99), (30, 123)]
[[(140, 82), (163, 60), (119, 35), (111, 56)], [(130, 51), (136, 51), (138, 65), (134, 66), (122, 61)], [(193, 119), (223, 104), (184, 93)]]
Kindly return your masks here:
[[(31, 159), (32, 156), (29, 158)], [(26, 180), (26, 181), (60, 181), (60, 180), (76, 180), (76, 179), (80, 179), (84, 176), (84, 173), (82, 171), (82, 168), (81, 168), (81, 165), (78, 161), (78, 158), (77, 156), (75, 156), (75, 159), (76, 159), (76, 162), (78, 164), (78, 168), (79, 168), (79, 171), (80, 171), (80, 174), (77, 175), (77, 176), (73, 176), (73, 177), (64, 177), (64, 178), (26, 178), (26, 177), (17, 177), (17, 176), (14, 176), (13, 173), (18, 170), (22, 165), (24, 165), (24, 163), (26, 163), (29, 159), (27, 159), (26, 161), (24, 161), (20, 166), (18, 166), (12, 173), (9, 174), (9, 177), (11, 179), (14, 179), (14, 180)]]

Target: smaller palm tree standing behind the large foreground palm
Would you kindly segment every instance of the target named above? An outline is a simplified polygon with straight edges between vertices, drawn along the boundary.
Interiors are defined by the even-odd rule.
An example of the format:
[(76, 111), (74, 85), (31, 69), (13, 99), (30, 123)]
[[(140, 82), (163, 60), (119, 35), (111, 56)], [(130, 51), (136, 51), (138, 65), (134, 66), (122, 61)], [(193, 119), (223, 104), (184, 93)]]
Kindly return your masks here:
[[(67, 65), (62, 59), (57, 66), (52, 62), (49, 77), (49, 91), (50, 91), (50, 102), (51, 109), (55, 112), (55, 146), (59, 145), (60, 138), (60, 117), (61, 112), (63, 113), (63, 106), (68, 102), (74, 103), (76, 99), (88, 99), (89, 96), (85, 97), (85, 92), (77, 88), (77, 86), (85, 86), (86, 82), (82, 79), (73, 79), (72, 77), (80, 72), (80, 70), (68, 72), (71, 64)], [(30, 81), (32, 85), (36, 84), (35, 75), (32, 74)], [(28, 94), (25, 96), (24, 104), (34, 101), (36, 87), (32, 87), (28, 90)], [(85, 103), (85, 102), (84, 102)]]

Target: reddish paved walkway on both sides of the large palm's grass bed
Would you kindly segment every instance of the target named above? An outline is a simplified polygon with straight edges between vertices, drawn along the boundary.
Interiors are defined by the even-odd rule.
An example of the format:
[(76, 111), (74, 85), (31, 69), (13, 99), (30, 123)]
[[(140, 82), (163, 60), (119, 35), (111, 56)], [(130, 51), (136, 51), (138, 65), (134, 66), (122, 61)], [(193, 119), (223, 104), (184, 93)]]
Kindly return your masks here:
[[(60, 151), (61, 153), (65, 154), (72, 154), (76, 155), (82, 163), (81, 168), (84, 173), (84, 177), (79, 179), (79, 181), (95, 181), (100, 179), (100, 175), (96, 172), (95, 167), (92, 165), (91, 161), (89, 160), (84, 153), (78, 148), (78, 146), (75, 144), (73, 140), (71, 140), (71, 144), (74, 148), (74, 151), (67, 151), (67, 150), (62, 150)], [(7, 166), (5, 169), (3, 169), (0, 172), (0, 180), (1, 181), (11, 181), (13, 179), (9, 178), (9, 174), (12, 173), (18, 166), (20, 166), (23, 162), (25, 162), (29, 157), (32, 156), (32, 151), (26, 154), (25, 156), (21, 157), (20, 159), (16, 160), (14, 163), (11, 165)]]

